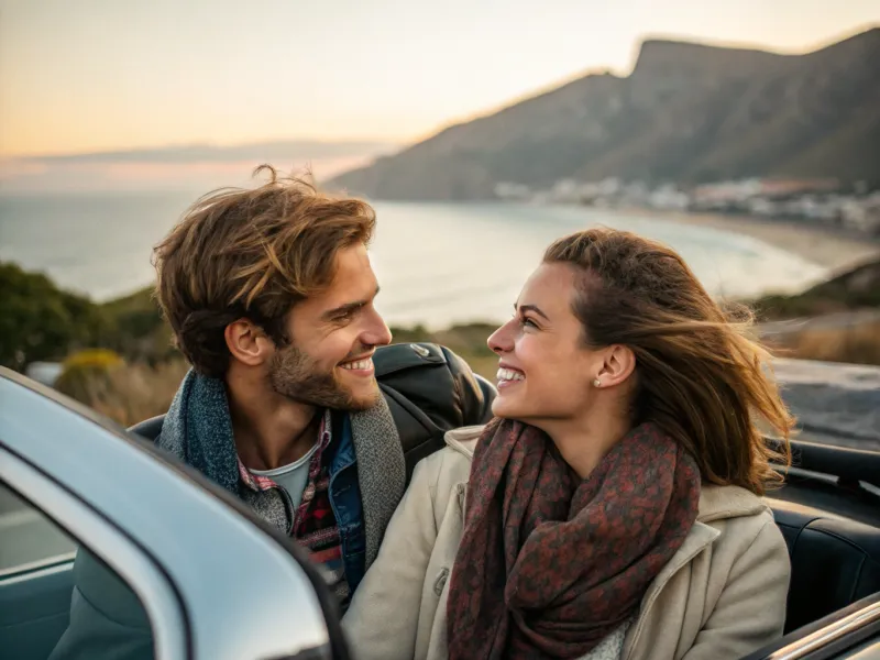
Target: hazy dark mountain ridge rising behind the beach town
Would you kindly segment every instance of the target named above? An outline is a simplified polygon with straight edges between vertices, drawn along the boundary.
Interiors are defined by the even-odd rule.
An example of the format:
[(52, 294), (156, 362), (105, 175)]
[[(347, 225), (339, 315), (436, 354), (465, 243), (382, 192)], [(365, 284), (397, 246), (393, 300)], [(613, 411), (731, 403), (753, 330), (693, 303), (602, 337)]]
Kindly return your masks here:
[(490, 199), (501, 182), (778, 176), (880, 182), (880, 28), (805, 55), (649, 40), (588, 75), (342, 174), (383, 199)]

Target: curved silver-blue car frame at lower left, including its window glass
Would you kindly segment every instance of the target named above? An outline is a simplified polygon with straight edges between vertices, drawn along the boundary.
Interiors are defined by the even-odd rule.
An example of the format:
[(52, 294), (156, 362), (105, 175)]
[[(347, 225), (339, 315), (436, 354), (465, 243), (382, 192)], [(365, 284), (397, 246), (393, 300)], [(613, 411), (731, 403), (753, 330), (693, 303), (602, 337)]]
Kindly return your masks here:
[[(72, 639), (99, 659), (348, 658), (299, 549), (148, 443), (8, 370), (0, 530), (3, 658), (46, 660)], [(92, 610), (111, 635), (76, 628)]]

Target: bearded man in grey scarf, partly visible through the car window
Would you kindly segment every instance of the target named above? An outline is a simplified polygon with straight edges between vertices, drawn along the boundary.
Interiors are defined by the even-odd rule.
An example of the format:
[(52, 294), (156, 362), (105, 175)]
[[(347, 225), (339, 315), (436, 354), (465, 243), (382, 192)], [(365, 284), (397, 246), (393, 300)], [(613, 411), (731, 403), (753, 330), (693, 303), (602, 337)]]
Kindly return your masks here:
[[(304, 546), (344, 609), (415, 462), (490, 402), (438, 346), (384, 349), (380, 388), (392, 336), (373, 305), (373, 209), (264, 169), (256, 189), (198, 200), (155, 250), (158, 301), (193, 365), (156, 443)], [(128, 586), (85, 549), (74, 573), (53, 660), (152, 657)]]

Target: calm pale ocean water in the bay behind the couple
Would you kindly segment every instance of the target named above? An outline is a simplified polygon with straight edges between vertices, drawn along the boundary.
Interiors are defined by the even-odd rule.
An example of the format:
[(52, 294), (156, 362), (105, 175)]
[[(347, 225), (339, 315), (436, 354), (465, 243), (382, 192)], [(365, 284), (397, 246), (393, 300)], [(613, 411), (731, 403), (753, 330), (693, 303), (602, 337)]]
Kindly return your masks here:
[[(0, 260), (42, 271), (101, 301), (152, 283), (158, 242), (196, 195), (186, 193), (0, 196)], [(825, 268), (735, 232), (663, 217), (503, 202), (374, 204), (371, 258), (377, 308), (391, 324), (442, 328), (509, 317), (520, 286), (554, 239), (604, 224), (678, 250), (717, 297), (793, 290)]]

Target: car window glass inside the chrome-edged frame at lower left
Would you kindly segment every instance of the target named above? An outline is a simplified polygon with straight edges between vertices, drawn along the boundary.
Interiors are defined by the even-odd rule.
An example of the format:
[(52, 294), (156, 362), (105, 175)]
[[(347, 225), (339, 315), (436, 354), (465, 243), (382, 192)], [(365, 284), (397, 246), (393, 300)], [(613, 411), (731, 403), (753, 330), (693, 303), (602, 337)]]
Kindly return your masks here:
[(132, 588), (2, 482), (0, 649), (16, 660), (153, 657), (150, 622)]

